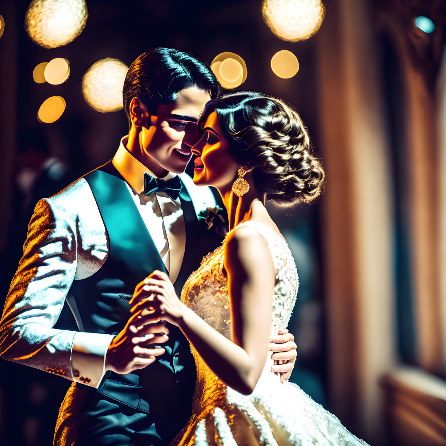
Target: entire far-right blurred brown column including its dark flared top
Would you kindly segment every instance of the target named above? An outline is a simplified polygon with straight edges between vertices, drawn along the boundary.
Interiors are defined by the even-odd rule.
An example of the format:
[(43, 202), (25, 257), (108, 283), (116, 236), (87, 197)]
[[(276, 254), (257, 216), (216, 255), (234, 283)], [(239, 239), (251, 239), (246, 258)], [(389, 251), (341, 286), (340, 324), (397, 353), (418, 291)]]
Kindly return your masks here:
[[(421, 13), (437, 29), (415, 26)], [(443, 0), (382, 0), (380, 28), (391, 37), (399, 57), (405, 94), (405, 142), (409, 169), (411, 273), (417, 339), (417, 365), (434, 374), (446, 372), (442, 336), (441, 243), (444, 226), (442, 155), (438, 137), (435, 83), (446, 38)], [(440, 98), (438, 98), (440, 99)], [(441, 125), (441, 124), (440, 124)], [(443, 210), (442, 210), (443, 209)], [(442, 220), (443, 219), (443, 220)]]

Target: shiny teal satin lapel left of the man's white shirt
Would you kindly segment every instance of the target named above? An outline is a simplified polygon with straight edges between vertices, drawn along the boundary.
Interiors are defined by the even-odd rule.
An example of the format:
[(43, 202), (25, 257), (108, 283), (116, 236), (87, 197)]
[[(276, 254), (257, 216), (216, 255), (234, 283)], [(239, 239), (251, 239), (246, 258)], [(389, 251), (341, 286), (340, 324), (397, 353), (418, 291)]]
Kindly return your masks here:
[[(109, 161), (84, 177), (98, 202), (110, 234), (109, 256), (131, 265), (140, 280), (155, 269), (168, 273), (124, 180)], [(109, 237), (110, 239), (110, 237)]]

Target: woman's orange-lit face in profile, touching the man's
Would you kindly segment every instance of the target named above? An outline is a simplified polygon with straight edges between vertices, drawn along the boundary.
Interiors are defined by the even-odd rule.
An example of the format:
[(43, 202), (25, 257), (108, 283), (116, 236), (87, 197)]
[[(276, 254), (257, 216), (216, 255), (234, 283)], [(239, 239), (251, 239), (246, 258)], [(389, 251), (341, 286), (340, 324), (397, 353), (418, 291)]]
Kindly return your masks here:
[(192, 148), (192, 153), (198, 155), (195, 159), (194, 183), (214, 186), (219, 190), (230, 189), (240, 166), (229, 153), (216, 111), (207, 117), (202, 131), (202, 138)]

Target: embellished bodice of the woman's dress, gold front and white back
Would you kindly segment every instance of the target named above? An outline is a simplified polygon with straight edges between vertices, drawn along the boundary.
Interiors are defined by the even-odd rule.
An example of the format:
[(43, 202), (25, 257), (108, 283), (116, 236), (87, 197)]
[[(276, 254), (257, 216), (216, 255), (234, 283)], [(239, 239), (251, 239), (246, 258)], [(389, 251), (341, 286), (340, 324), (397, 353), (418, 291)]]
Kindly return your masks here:
[[(276, 271), (274, 295), (271, 299), (273, 314), (271, 334), (277, 334), (288, 325), (297, 297), (299, 280), (296, 264), (288, 244), (281, 235), (263, 223), (247, 221), (240, 226), (249, 226), (260, 232), (268, 243)], [(226, 239), (225, 239), (226, 240)], [(181, 301), (198, 314), (211, 327), (231, 339), (231, 312), (227, 293), (227, 278), (223, 273), (224, 241), (214, 252), (203, 257), (200, 267), (186, 281)], [(214, 405), (224, 406), (226, 386), (215, 376), (191, 345), (197, 365), (197, 386), (194, 396), (194, 413), (202, 413)], [(262, 376), (273, 377), (269, 372), (271, 359), (265, 358)]]

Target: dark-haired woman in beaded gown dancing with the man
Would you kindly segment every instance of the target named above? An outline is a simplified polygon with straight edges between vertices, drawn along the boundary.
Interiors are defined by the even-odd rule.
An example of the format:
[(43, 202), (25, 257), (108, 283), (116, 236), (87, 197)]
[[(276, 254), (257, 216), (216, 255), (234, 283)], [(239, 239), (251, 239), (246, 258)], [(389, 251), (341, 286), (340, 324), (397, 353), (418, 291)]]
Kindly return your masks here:
[(210, 101), (198, 127), (194, 182), (219, 190), (230, 230), (186, 281), (181, 301), (155, 271), (131, 302), (132, 311), (145, 306), (178, 325), (197, 364), (193, 413), (171, 444), (366, 444), (269, 372), (274, 360), (284, 362), (281, 353), (268, 356), (268, 337), (287, 326), (298, 277), (264, 202), (288, 209), (322, 192), (324, 172), (306, 128), (288, 104), (253, 92)]

